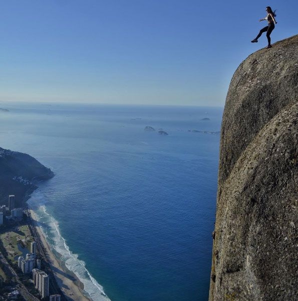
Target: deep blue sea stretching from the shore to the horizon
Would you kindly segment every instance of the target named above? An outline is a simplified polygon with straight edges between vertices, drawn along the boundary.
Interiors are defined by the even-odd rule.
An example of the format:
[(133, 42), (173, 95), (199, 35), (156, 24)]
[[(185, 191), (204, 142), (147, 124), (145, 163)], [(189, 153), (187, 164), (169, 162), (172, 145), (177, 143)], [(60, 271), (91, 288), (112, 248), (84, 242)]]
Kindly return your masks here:
[(208, 298), (219, 134), (188, 130), (219, 131), (222, 108), (0, 107), (0, 146), (56, 173), (30, 204), (94, 300)]

